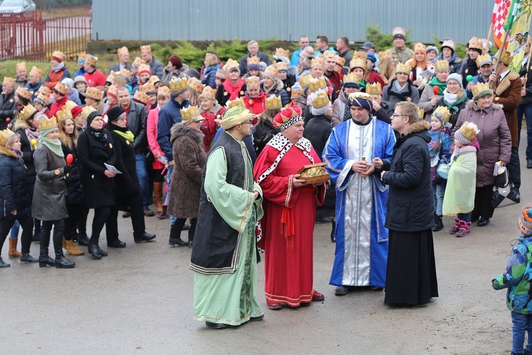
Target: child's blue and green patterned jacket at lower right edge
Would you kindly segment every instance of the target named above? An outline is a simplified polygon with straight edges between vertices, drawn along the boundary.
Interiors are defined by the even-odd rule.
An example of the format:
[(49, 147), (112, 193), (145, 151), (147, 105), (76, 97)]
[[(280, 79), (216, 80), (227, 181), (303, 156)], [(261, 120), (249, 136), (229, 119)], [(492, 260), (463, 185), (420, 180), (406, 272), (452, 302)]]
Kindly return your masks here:
[(492, 280), (495, 290), (508, 288), (506, 306), (512, 312), (523, 315), (532, 313), (531, 279), (532, 279), (532, 237), (520, 236), (511, 249), (506, 272)]

